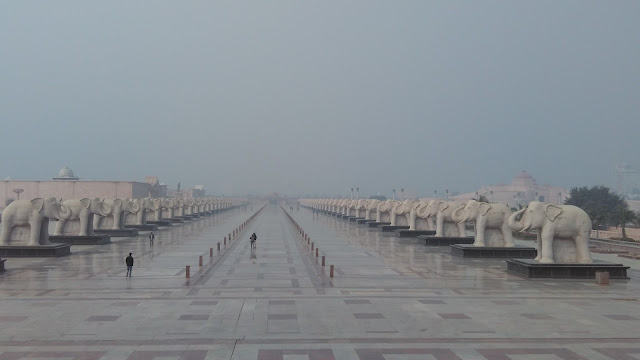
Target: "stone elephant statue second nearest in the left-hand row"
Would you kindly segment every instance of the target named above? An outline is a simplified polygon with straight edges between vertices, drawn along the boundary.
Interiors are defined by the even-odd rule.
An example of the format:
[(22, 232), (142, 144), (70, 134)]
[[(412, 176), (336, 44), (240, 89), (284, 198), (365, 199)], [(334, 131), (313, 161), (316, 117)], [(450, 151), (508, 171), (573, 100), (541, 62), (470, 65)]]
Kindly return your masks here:
[[(93, 235), (94, 215), (109, 216), (112, 207), (98, 198), (69, 199), (62, 202), (71, 209), (71, 217), (67, 220), (58, 220), (53, 232), (55, 236), (90, 236)], [(79, 229), (74, 224), (79, 223)]]

